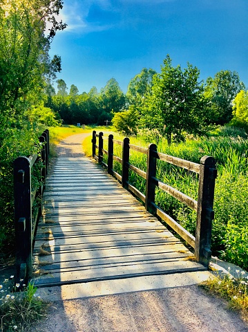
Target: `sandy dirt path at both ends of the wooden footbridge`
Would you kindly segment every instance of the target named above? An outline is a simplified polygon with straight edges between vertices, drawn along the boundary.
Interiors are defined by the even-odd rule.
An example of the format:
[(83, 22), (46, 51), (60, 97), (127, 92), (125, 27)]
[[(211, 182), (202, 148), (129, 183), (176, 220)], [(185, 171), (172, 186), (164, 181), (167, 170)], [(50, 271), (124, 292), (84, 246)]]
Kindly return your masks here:
[[(86, 135), (77, 134), (62, 141), (59, 154), (82, 156), (82, 140)], [(61, 293), (58, 289), (48, 290), (53, 291)], [(59, 299), (53, 302), (46, 321), (32, 329), (35, 331), (248, 332), (248, 325), (237, 313), (229, 311), (224, 301), (191, 285)]]

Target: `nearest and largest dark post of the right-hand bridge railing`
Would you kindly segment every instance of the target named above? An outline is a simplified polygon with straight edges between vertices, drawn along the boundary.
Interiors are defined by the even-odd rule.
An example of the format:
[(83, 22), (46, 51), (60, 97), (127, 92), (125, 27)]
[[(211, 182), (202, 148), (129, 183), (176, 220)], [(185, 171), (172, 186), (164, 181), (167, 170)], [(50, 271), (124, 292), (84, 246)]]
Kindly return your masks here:
[(216, 161), (213, 157), (200, 159), (198, 212), (195, 231), (195, 258), (205, 266), (211, 259), (211, 231), (213, 213), (213, 196), (216, 182)]

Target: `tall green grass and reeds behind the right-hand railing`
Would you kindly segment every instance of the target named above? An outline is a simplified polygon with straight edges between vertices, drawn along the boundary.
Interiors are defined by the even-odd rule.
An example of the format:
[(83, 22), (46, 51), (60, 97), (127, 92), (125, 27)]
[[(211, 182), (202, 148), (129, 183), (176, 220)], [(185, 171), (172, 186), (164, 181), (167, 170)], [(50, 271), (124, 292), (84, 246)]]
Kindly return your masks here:
[[(131, 137), (131, 143), (143, 147), (147, 147), (148, 143), (157, 143), (159, 152), (196, 163), (199, 163), (204, 155), (211, 155), (216, 159), (218, 177), (213, 207), (215, 220), (213, 220), (212, 251), (220, 258), (248, 270), (248, 141), (240, 137), (237, 130), (232, 131), (228, 128), (228, 133), (229, 136), (218, 130), (211, 137), (191, 137), (184, 143), (168, 146), (166, 140), (159, 137), (158, 133), (146, 131), (137, 137)], [(114, 138), (122, 139), (123, 137), (114, 134)], [(90, 144), (89, 140), (86, 145), (88, 144)], [(104, 144), (107, 150), (107, 141), (104, 141)], [(115, 146), (114, 153), (122, 157), (121, 147)], [(140, 152), (131, 150), (130, 162), (146, 171), (146, 156)], [(114, 169), (121, 173), (120, 164), (114, 163)], [(157, 177), (197, 200), (198, 175), (195, 173), (158, 161)], [(129, 180), (144, 193), (145, 181), (141, 177), (130, 171)], [(156, 191), (155, 202), (191, 234), (195, 234), (195, 211), (159, 189)]]

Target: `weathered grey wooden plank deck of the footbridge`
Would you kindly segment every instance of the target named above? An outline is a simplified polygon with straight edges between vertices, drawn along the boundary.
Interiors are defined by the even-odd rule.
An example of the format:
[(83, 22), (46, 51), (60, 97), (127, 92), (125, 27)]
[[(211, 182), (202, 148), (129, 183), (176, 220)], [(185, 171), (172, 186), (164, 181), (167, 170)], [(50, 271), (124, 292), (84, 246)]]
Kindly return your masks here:
[(206, 270), (113, 177), (59, 157), (46, 182), (34, 249), (37, 286)]

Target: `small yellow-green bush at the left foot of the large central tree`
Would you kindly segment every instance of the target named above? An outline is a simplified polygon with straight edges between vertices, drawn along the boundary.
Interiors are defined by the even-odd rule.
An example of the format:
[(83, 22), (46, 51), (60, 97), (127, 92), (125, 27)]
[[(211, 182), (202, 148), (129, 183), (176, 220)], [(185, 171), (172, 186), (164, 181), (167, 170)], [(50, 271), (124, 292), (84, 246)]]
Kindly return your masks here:
[(115, 116), (112, 119), (113, 127), (117, 132), (124, 135), (136, 135), (139, 118), (139, 112), (137, 112), (135, 107), (131, 105), (129, 110), (115, 113)]

